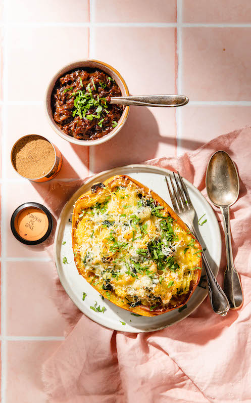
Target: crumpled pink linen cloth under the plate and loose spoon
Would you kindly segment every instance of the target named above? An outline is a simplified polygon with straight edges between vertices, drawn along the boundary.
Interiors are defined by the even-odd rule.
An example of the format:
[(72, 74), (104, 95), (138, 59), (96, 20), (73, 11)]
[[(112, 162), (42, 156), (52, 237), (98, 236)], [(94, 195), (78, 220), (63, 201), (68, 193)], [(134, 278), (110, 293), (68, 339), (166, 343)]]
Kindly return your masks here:
[[(102, 327), (81, 314), (56, 280), (55, 301), (68, 321), (66, 339), (43, 367), (53, 403), (251, 402), (251, 128), (218, 137), (179, 158), (148, 161), (179, 170), (207, 197), (210, 156), (225, 150), (240, 174), (240, 195), (231, 207), (233, 254), (244, 304), (225, 318), (209, 298), (180, 323), (152, 333)], [(59, 185), (62, 187), (62, 184)], [(218, 281), (226, 266), (223, 257)]]

